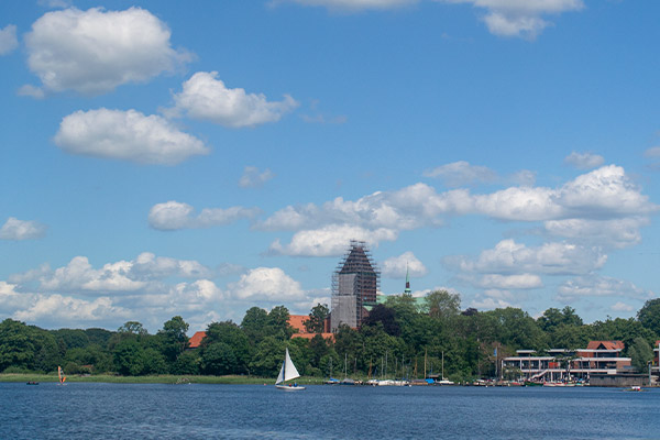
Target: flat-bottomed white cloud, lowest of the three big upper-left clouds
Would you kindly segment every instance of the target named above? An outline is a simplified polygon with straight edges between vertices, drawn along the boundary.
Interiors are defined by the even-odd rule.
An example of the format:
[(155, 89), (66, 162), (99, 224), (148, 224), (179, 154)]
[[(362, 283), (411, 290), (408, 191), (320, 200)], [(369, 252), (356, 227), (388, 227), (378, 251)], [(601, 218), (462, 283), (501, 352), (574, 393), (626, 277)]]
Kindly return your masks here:
[(77, 111), (62, 120), (54, 141), (70, 154), (140, 164), (175, 165), (209, 153), (200, 140), (167, 120), (135, 110)]

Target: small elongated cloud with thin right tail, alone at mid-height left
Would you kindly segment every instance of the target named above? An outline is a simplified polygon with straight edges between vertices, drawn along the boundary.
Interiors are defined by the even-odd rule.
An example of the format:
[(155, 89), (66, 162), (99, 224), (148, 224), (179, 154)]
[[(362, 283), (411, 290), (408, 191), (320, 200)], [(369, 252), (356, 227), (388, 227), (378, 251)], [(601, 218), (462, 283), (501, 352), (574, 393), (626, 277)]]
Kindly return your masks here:
[(162, 231), (188, 228), (212, 228), (231, 224), (241, 219), (252, 219), (260, 213), (257, 208), (231, 207), (205, 208), (199, 215), (188, 204), (175, 200), (154, 205), (148, 211), (148, 224)]

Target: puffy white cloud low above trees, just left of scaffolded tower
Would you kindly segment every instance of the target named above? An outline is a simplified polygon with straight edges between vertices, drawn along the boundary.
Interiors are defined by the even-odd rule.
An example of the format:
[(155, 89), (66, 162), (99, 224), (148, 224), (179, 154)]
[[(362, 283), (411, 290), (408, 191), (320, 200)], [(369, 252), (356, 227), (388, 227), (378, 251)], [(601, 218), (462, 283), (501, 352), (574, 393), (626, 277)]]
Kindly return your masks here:
[(300, 283), (278, 267), (253, 268), (228, 288), (239, 299), (282, 302), (305, 298)]

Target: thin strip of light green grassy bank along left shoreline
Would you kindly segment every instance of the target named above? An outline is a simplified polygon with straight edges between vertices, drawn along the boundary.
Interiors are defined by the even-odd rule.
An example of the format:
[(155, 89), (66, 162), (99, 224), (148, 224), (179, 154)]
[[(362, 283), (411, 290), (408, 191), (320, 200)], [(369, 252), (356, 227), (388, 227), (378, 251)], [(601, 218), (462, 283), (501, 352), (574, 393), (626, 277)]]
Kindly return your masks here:
[[(180, 376), (163, 374), (156, 376), (117, 376), (110, 374), (98, 375), (67, 375), (67, 382), (99, 382), (116, 384), (176, 384), (180, 382), (190, 382), (193, 384), (255, 384), (273, 385), (275, 380), (272, 377), (256, 376)], [(0, 374), (0, 382), (57, 382), (56, 374), (32, 374), (32, 373), (8, 373)], [(321, 384), (320, 377), (300, 377), (297, 381), (304, 385)]]

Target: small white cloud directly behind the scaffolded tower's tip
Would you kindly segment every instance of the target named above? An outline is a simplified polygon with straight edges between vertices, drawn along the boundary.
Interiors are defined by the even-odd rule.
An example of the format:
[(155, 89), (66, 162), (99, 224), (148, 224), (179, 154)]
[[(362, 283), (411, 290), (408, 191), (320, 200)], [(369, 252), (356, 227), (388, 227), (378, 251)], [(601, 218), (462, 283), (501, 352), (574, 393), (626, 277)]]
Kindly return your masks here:
[(338, 256), (345, 252), (350, 240), (360, 240), (377, 246), (381, 241), (394, 241), (397, 237), (396, 231), (385, 228), (369, 230), (348, 224), (331, 224), (299, 231), (287, 245), (282, 245), (279, 240), (276, 240), (271, 244), (270, 252), (292, 256)]

